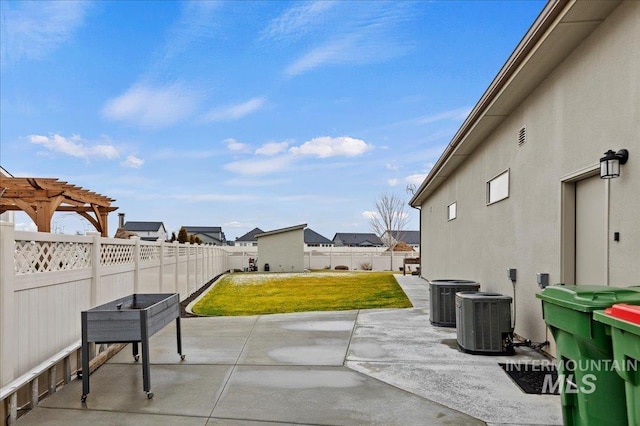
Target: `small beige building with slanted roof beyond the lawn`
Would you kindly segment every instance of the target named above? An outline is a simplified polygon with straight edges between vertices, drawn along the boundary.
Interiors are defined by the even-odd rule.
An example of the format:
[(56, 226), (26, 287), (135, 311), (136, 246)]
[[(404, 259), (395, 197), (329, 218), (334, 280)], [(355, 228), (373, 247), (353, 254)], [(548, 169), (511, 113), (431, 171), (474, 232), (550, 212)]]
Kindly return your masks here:
[(307, 224), (257, 234), (258, 271), (303, 272)]

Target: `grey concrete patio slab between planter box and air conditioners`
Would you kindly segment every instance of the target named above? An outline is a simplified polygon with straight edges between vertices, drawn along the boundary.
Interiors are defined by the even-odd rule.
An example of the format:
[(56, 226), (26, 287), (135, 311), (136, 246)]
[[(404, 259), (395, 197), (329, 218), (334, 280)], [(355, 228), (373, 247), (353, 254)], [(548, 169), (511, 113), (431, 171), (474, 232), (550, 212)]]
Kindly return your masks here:
[(427, 282), (396, 275), (411, 309), (186, 318), (151, 338), (151, 391), (129, 348), (74, 380), (21, 425), (561, 425), (560, 397), (523, 393), (498, 362), (429, 323)]

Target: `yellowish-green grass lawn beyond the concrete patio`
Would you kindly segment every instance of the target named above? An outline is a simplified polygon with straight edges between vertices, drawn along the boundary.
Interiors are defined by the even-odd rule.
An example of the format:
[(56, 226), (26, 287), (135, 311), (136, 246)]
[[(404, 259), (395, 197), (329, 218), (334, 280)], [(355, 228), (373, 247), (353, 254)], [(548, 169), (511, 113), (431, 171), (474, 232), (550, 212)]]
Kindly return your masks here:
[(234, 273), (193, 307), (198, 315), (410, 308), (391, 272)]

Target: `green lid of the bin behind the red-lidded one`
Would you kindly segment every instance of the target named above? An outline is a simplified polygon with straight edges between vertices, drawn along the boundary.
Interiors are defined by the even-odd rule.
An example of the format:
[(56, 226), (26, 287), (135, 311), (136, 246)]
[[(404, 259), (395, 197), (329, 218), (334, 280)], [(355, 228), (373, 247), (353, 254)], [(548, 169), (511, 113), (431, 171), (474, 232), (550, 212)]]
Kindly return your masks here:
[(603, 285), (554, 285), (536, 294), (544, 302), (580, 312), (605, 309), (616, 303), (640, 305), (640, 288)]

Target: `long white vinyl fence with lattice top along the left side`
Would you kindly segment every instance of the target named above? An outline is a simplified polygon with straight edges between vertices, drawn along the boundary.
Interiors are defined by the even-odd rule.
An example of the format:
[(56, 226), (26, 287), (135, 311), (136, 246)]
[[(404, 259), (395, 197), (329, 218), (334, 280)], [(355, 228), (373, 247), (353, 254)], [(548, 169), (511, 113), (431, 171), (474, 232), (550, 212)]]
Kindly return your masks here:
[(83, 310), (133, 293), (183, 300), (227, 271), (228, 257), (215, 246), (24, 232), (0, 222), (0, 413), (15, 419), (20, 387), (31, 384), (35, 405), (70, 380)]

